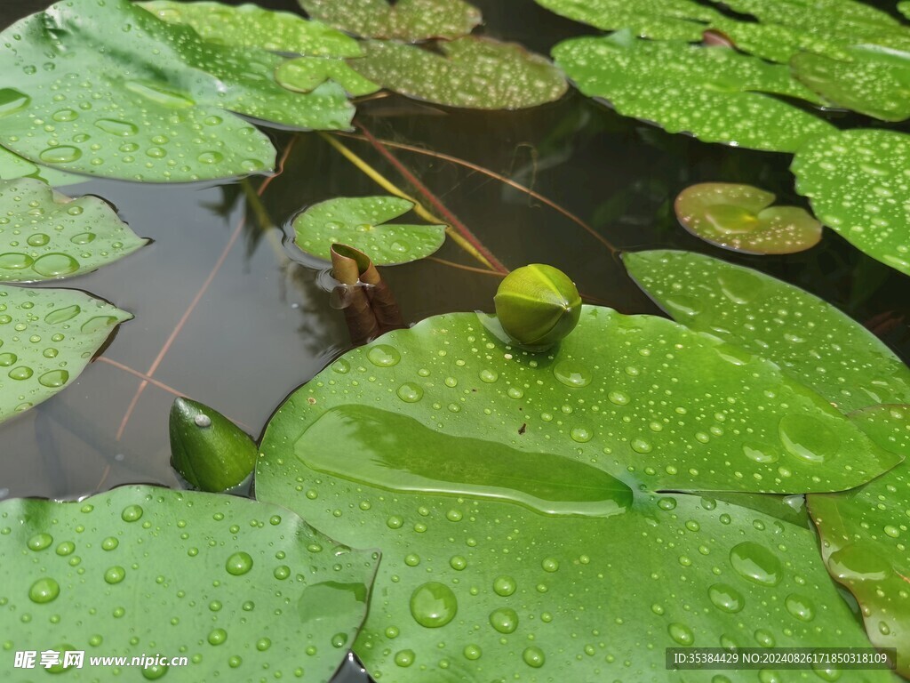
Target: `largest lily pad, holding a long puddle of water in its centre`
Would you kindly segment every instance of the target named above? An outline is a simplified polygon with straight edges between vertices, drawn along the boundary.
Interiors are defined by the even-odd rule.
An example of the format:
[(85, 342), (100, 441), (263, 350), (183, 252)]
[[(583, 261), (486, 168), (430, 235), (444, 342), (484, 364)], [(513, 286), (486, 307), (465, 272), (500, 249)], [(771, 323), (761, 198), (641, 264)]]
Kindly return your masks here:
[[(794, 487), (832, 483), (844, 464), (801, 463), (778, 424), (785, 438), (792, 419), (846, 420), (773, 364), (662, 319), (589, 307), (551, 355), (492, 324), (390, 332), (268, 425), (258, 496), (386, 551), (354, 645), (374, 677), (676, 680), (655, 674), (664, 647), (867, 642), (808, 530), (648, 493), (756, 490), (788, 468)], [(741, 454), (743, 424), (778, 462)]]

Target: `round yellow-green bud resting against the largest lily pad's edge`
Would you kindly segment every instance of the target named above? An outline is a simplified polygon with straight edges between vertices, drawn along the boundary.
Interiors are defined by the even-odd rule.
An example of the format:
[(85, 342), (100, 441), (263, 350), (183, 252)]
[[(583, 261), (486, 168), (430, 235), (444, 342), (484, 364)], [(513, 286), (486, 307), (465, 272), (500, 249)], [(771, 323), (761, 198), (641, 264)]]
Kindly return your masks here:
[(529, 351), (545, 351), (575, 329), (581, 296), (557, 268), (531, 263), (512, 270), (493, 298), (502, 329)]

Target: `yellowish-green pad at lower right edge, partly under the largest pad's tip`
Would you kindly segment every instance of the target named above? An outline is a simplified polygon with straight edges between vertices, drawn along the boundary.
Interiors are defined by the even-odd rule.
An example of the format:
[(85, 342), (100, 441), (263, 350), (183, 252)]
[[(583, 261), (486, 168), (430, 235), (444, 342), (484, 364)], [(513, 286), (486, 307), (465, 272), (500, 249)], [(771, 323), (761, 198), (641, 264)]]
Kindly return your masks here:
[[(910, 405), (877, 405), (851, 418), (910, 459)], [(910, 460), (853, 491), (808, 501), (828, 571), (856, 597), (872, 642), (896, 647), (898, 670), (910, 678)]]

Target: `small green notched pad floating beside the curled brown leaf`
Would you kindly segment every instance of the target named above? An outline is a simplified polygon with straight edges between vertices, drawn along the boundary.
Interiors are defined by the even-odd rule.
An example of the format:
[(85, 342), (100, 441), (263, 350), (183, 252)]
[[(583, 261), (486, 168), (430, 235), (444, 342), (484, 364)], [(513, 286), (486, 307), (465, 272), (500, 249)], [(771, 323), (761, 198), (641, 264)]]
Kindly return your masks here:
[(430, 256), (446, 239), (444, 225), (386, 223), (413, 208), (398, 197), (339, 197), (314, 204), (294, 219), (297, 246), (330, 260), (332, 244), (363, 251), (378, 266)]

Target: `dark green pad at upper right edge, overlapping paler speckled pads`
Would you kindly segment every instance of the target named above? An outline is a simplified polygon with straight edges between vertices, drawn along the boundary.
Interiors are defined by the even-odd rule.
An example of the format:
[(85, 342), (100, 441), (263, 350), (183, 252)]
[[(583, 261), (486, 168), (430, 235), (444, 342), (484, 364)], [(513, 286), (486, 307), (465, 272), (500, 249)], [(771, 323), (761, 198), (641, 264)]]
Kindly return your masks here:
[(910, 117), (910, 53), (855, 46), (844, 58), (799, 53), (794, 75), (835, 105), (883, 121)]

